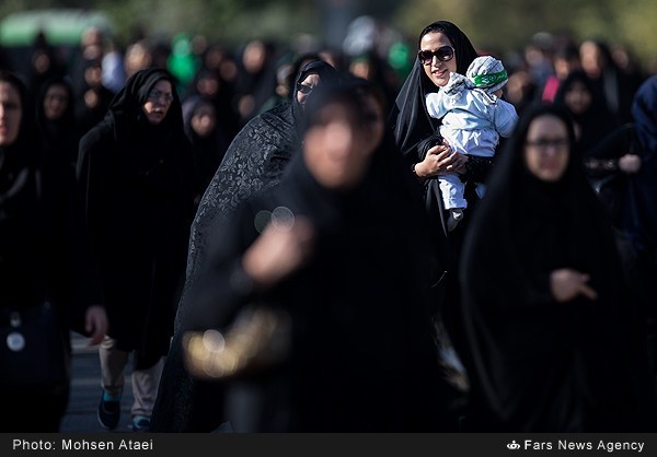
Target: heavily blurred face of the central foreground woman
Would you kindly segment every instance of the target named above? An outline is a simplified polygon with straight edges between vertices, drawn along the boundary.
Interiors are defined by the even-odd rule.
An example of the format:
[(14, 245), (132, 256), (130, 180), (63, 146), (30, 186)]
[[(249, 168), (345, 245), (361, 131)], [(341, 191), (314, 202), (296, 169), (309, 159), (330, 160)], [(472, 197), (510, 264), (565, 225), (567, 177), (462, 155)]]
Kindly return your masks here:
[(333, 190), (349, 189), (364, 177), (373, 148), (354, 107), (332, 103), (306, 132), (303, 159), (310, 173)]

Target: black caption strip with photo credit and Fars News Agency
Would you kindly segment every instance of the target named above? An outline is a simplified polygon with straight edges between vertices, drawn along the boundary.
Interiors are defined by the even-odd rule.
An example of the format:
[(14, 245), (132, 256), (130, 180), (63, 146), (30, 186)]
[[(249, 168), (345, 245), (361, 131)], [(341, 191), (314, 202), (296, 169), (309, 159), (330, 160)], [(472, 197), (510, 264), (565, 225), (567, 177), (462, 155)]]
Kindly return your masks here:
[(0, 455), (657, 456), (657, 434), (0, 434)]

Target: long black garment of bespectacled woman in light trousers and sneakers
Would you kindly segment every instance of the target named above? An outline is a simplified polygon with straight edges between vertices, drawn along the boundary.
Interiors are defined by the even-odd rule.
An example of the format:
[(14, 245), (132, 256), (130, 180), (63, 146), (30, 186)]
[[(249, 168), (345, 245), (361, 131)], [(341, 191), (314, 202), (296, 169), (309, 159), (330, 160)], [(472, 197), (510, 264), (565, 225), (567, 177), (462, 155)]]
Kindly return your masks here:
[(142, 105), (173, 78), (136, 73), (80, 141), (78, 177), (117, 348), (148, 367), (169, 350), (193, 216), (193, 163), (180, 98), (151, 125)]

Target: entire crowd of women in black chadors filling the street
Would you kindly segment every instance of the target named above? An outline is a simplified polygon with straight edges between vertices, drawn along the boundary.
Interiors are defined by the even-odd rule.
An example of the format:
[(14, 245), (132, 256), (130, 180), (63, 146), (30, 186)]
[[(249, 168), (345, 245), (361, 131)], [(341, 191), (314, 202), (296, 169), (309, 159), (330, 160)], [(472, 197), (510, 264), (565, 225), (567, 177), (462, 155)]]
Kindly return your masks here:
[[(407, 71), (46, 38), (0, 73), (2, 363), (47, 303), (108, 430), (130, 360), (134, 431), (657, 426), (657, 75), (449, 21)], [(11, 379), (0, 430), (58, 431), (70, 378)]]

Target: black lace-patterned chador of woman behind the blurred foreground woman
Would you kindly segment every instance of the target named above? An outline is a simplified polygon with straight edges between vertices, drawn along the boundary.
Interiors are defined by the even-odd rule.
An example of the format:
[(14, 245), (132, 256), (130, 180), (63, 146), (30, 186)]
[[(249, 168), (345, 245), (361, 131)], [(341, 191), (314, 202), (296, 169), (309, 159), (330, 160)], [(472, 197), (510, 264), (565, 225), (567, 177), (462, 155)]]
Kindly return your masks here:
[[(336, 70), (324, 61), (302, 67), (297, 81), (318, 73), (322, 81), (337, 80)], [(299, 148), (301, 106), (297, 92), (291, 101), (251, 119), (231, 142), (221, 165), (204, 194), (192, 224), (186, 279), (175, 318), (175, 333), (164, 364), (158, 399), (151, 417), (154, 432), (211, 431), (220, 408), (220, 388), (193, 379), (183, 366), (180, 326), (187, 313), (187, 291), (207, 261), (208, 243), (240, 202), (275, 185)]]

